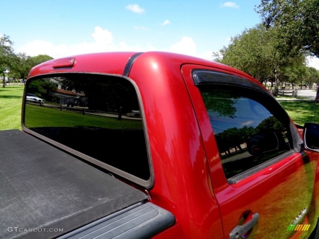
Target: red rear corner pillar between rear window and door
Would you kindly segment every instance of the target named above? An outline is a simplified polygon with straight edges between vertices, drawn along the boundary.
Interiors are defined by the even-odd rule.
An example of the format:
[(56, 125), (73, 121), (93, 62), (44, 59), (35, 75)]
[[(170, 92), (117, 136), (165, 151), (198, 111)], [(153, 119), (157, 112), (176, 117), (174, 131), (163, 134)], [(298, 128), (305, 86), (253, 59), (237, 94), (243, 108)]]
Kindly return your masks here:
[(223, 238), (200, 131), (181, 76), (183, 62), (144, 53), (129, 75), (144, 106), (155, 178), (150, 195), (175, 215), (185, 238)]

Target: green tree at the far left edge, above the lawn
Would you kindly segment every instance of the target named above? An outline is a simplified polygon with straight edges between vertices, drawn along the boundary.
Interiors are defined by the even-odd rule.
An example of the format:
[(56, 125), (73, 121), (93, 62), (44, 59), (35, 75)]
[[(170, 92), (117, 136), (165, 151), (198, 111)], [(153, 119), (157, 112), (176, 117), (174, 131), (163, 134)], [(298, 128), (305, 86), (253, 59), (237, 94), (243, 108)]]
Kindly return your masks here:
[(14, 59), (13, 42), (9, 36), (0, 37), (0, 74), (3, 76), (2, 87), (5, 87), (5, 72), (8, 71)]

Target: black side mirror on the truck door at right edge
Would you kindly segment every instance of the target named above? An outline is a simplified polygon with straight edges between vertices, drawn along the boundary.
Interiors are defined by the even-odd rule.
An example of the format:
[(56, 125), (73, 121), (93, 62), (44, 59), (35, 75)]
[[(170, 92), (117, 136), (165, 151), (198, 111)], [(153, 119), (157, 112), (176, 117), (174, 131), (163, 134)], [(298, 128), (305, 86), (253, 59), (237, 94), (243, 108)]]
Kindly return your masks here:
[(303, 128), (305, 148), (311, 151), (319, 152), (319, 124), (306, 123)]

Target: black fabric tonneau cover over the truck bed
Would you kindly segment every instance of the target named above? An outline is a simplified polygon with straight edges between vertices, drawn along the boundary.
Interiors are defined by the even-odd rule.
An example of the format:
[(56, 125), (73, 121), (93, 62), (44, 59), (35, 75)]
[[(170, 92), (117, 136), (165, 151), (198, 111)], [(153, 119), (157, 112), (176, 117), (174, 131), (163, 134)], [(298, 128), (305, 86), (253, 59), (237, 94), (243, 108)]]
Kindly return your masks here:
[(0, 238), (55, 238), (145, 199), (31, 135), (0, 131)]

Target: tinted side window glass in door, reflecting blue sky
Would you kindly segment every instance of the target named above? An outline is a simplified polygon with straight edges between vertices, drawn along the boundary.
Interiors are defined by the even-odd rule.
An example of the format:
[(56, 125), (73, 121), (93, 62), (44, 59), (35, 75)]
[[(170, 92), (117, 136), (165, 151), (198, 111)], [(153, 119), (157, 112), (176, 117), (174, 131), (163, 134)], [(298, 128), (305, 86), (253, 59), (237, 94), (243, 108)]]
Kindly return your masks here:
[[(198, 85), (226, 178), (291, 150), (289, 121), (260, 91), (240, 86)], [(277, 109), (276, 109), (277, 107)]]

